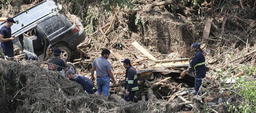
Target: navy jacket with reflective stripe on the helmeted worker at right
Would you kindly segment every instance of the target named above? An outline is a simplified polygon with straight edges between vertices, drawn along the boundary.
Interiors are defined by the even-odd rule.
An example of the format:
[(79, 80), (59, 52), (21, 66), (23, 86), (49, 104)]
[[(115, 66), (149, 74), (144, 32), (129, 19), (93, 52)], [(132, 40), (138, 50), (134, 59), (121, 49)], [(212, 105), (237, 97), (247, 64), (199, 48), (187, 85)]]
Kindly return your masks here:
[(205, 55), (202, 50), (198, 50), (196, 52), (195, 57), (192, 59), (189, 65), (193, 67), (195, 76), (204, 76), (206, 74)]

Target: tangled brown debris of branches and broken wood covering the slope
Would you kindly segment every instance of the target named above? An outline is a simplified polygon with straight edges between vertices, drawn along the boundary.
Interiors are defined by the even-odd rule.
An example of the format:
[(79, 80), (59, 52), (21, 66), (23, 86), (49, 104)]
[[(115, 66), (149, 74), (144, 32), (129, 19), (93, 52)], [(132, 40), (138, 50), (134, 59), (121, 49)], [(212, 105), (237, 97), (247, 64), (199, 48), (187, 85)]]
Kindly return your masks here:
[[(110, 83), (110, 100), (104, 100), (85, 94), (81, 85), (48, 71), (44, 63), (1, 60), (2, 72), (9, 76), (1, 77), (0, 103), (6, 106), (0, 109), (4, 112), (231, 112), (227, 111), (229, 103), (239, 105), (244, 99), (233, 89), (236, 77), (253, 78), (255, 70), (245, 67), (256, 63), (253, 15), (256, 6), (253, 1), (240, 2), (220, 0), (212, 6), (203, 1), (198, 4), (200, 8), (190, 8), (184, 4), (191, 5), (191, 1), (155, 7), (148, 0), (136, 2), (132, 11), (116, 8), (115, 14), (102, 15), (98, 23), (90, 23), (96, 30), (72, 53), (71, 62), (78, 74), (90, 77), (93, 59), (107, 48), (111, 50), (108, 61), (113, 75), (119, 81), (125, 74), (121, 61), (129, 58), (138, 74), (137, 103), (121, 99), (124, 82)], [(96, 9), (92, 9), (93, 15), (99, 15)], [(87, 16), (74, 12), (79, 12), (77, 15), (82, 18)], [(203, 79), (206, 88), (200, 88), (204, 92), (201, 96), (193, 95), (193, 75), (180, 76), (189, 66), (189, 57), (193, 56), (190, 45), (194, 42), (201, 43), (206, 54), (207, 77)]]

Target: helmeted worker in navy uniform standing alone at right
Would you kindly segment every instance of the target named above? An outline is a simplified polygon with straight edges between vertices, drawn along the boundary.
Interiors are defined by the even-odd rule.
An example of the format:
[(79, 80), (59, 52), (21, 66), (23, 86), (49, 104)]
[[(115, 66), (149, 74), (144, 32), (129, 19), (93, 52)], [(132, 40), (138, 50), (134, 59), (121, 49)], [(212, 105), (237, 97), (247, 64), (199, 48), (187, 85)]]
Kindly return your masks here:
[(195, 76), (195, 90), (196, 95), (200, 95), (198, 92), (200, 86), (202, 85), (202, 79), (205, 77), (205, 55), (200, 48), (199, 43), (194, 43), (191, 46), (191, 49), (196, 52), (194, 58), (189, 63), (189, 65), (193, 68), (193, 74)]

